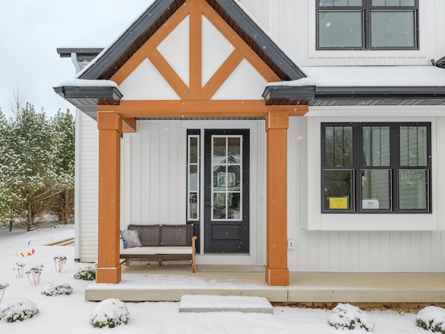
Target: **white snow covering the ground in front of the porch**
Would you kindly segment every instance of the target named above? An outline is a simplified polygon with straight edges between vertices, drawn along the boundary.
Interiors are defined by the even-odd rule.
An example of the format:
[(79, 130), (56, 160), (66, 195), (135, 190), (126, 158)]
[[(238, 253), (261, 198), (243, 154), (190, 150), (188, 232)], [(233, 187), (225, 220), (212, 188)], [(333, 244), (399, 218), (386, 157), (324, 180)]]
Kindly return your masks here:
[[(129, 310), (127, 325), (93, 328), (90, 317), (98, 304), (87, 302), (84, 298), (84, 290), (91, 282), (73, 278), (79, 267), (89, 264), (74, 262), (73, 246), (42, 246), (73, 236), (72, 225), (39, 228), (32, 232), (0, 229), (0, 282), (9, 283), (0, 305), (13, 299), (29, 299), (39, 310), (38, 315), (23, 322), (0, 321), (0, 333), (345, 333), (327, 324), (330, 310), (275, 307), (273, 315), (241, 312), (179, 313), (179, 303), (126, 303)], [(22, 257), (20, 253), (24, 251), (32, 255)], [(67, 257), (67, 263), (63, 271), (58, 273), (54, 257), (63, 255)], [(17, 278), (13, 271), (17, 267), (16, 262), (24, 262), (25, 269), (43, 264), (40, 285), (32, 285), (26, 274)], [(158, 278), (166, 283), (181, 277), (162, 275)], [(41, 292), (49, 283), (69, 283), (74, 293), (70, 296), (45, 296)], [(373, 311), (366, 314), (376, 334), (427, 333), (416, 326), (416, 315), (413, 313)], [(368, 332), (362, 328), (350, 333)]]

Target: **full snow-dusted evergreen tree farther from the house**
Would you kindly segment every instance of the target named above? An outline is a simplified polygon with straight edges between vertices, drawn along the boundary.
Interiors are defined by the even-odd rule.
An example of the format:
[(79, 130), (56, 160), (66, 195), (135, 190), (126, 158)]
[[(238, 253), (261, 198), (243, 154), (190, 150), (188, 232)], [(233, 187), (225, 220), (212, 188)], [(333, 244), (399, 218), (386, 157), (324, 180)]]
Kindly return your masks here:
[(6, 135), (1, 166), (3, 182), (13, 193), (10, 212), (24, 218), (27, 230), (32, 230), (36, 219), (49, 213), (55, 195), (53, 129), (44, 113), (26, 104), (20, 117), (10, 121)]

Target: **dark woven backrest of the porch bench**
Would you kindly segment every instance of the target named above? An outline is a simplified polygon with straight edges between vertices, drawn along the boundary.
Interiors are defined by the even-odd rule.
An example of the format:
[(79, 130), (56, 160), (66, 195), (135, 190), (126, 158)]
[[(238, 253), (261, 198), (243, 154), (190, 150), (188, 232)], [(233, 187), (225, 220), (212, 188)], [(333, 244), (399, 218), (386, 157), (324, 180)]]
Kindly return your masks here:
[(192, 246), (193, 225), (128, 225), (143, 246)]

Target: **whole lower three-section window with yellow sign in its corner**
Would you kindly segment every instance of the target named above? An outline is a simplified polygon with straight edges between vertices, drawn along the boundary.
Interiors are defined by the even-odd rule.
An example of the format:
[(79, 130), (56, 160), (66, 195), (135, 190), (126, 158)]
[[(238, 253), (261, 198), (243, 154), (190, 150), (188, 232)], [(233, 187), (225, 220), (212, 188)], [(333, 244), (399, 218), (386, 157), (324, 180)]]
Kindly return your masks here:
[(322, 213), (430, 213), (431, 125), (321, 123)]

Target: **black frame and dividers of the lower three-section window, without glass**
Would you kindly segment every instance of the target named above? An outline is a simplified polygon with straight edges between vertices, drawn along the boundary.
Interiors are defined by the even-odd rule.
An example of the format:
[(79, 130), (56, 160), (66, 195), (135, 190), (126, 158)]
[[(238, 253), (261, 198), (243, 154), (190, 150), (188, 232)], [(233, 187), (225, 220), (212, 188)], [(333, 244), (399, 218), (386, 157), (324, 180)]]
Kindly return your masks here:
[[(326, 166), (325, 129), (326, 127), (352, 127), (353, 141), (352, 166)], [(389, 127), (389, 166), (364, 166), (363, 164), (363, 128), (364, 127)], [(402, 166), (401, 165), (401, 127), (426, 127), (426, 166)], [(432, 213), (432, 150), (431, 150), (431, 122), (322, 122), (321, 123), (321, 213), (322, 214), (431, 214)], [(428, 170), (428, 181), (426, 181), (427, 209), (399, 209), (398, 171), (399, 170)], [(391, 206), (389, 209), (363, 209), (362, 208), (362, 175), (361, 170), (391, 170)], [(353, 170), (353, 186), (351, 187), (351, 207), (348, 209), (325, 209), (325, 170)]]

